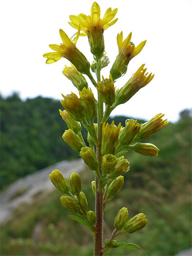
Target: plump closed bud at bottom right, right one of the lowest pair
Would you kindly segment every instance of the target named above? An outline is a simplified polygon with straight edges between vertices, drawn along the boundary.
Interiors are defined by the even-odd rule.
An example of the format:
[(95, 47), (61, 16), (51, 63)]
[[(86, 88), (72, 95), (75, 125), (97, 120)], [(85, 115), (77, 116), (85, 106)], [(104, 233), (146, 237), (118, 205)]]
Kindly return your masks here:
[(148, 220), (144, 213), (138, 213), (133, 218), (130, 218), (124, 225), (124, 229), (128, 233), (133, 233), (141, 228), (144, 228)]

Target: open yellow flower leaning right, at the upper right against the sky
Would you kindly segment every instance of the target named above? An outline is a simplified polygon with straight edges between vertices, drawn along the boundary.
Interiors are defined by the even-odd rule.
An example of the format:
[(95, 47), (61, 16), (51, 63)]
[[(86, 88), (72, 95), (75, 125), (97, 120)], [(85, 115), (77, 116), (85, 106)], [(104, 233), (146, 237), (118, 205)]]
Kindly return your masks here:
[(135, 57), (143, 49), (146, 40), (141, 42), (137, 47), (131, 43), (131, 34), (123, 41), (123, 33), (117, 34), (117, 45), (119, 53), (115, 62), (112, 65), (110, 73), (113, 81), (123, 76), (127, 71), (127, 65), (133, 57)]

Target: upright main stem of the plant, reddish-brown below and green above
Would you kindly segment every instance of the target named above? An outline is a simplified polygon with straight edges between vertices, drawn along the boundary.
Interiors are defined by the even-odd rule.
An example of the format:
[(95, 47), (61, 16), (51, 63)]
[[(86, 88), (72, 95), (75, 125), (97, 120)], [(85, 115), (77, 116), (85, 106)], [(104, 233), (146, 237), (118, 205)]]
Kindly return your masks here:
[[(101, 59), (97, 60), (97, 80), (100, 81)], [(102, 175), (101, 163), (101, 142), (102, 142), (102, 119), (103, 119), (103, 102), (100, 93), (98, 92), (98, 141), (97, 157), (99, 162), (99, 172)], [(94, 256), (102, 256), (103, 248), (103, 191), (98, 191), (98, 178), (95, 175), (96, 194), (95, 194), (95, 211), (96, 211), (96, 231), (94, 236)]]

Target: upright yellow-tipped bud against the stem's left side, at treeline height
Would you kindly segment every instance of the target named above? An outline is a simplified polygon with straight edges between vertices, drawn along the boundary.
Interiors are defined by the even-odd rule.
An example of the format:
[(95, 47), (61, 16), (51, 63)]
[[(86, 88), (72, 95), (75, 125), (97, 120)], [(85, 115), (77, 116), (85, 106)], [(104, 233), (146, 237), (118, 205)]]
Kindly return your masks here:
[(83, 88), (79, 93), (81, 103), (84, 106), (85, 118), (94, 119), (97, 115), (97, 101), (94, 98), (92, 90)]

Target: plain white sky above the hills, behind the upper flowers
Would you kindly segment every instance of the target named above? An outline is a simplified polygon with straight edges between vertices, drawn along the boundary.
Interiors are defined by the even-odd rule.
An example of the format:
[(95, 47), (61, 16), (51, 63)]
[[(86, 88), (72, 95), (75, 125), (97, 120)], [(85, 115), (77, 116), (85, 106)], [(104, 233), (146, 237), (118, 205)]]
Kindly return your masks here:
[[(43, 53), (52, 52), (49, 44), (61, 43), (59, 28), (69, 37), (76, 31), (69, 24), (69, 15), (90, 14), (94, 1), (88, 0), (4, 0), (1, 1), (1, 85), (3, 96), (19, 92), (23, 100), (38, 95), (61, 100), (61, 93), (77, 89), (62, 74), (69, 62), (62, 58), (45, 64)], [(131, 41), (137, 46), (147, 39), (143, 50), (128, 65), (126, 75), (116, 82), (121, 88), (145, 63), (154, 79), (126, 104), (112, 114), (150, 119), (164, 113), (176, 121), (178, 113), (192, 107), (192, 1), (191, 0), (98, 0), (101, 18), (109, 7), (118, 8), (117, 23), (104, 32), (105, 50), (111, 61), (102, 70), (109, 70), (117, 54), (117, 33), (123, 39), (132, 31)], [(77, 47), (90, 63), (87, 37), (79, 38)], [(93, 86), (91, 87), (93, 89)], [(79, 96), (79, 95), (78, 95)], [(62, 108), (62, 106), (61, 106)]]

